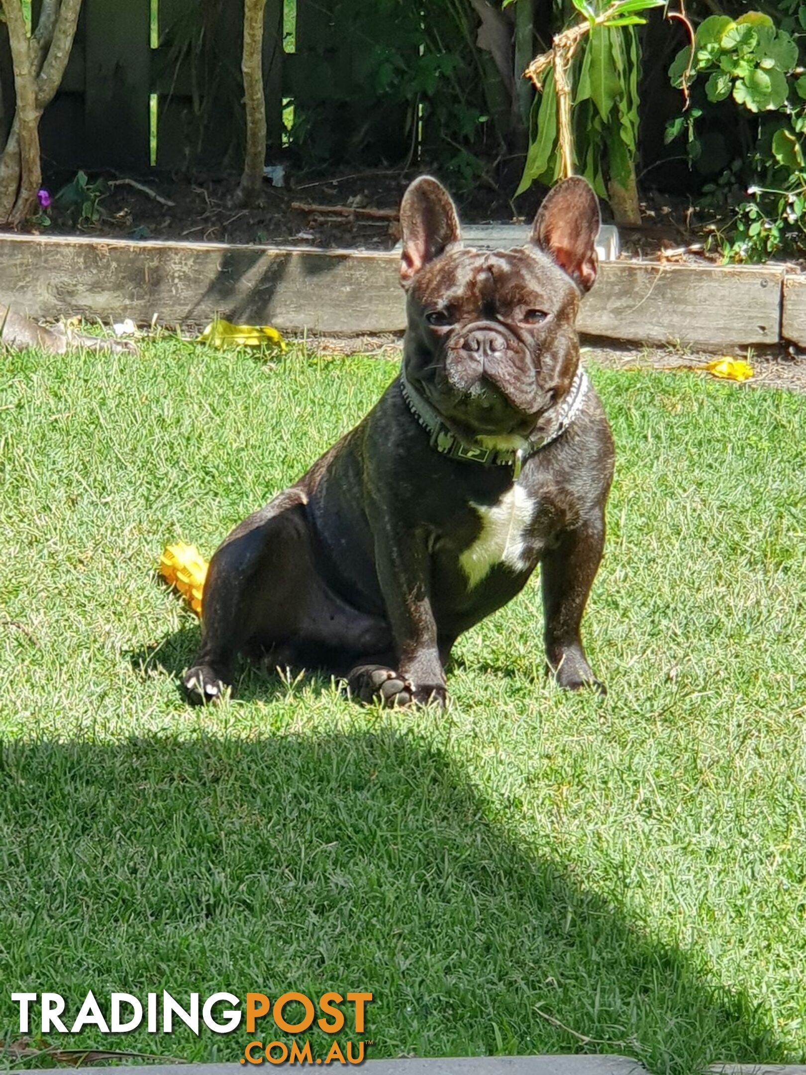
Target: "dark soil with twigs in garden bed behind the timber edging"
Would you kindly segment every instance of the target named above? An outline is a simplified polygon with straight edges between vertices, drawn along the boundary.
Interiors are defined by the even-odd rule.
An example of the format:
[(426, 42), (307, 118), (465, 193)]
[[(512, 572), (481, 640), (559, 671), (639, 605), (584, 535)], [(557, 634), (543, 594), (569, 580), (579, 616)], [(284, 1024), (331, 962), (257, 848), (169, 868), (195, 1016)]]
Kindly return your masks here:
[[(113, 239), (172, 239), (187, 242), (257, 243), (311, 246), (319, 249), (391, 249), (400, 238), (397, 212), (407, 184), (418, 170), (373, 170), (336, 173), (332, 176), (294, 176), (287, 185), (263, 184), (257, 203), (244, 207), (234, 202), (235, 177), (191, 183), (169, 177), (133, 180), (107, 173), (91, 175), (105, 192), (99, 200), (101, 218), (77, 221), (52, 211), (49, 227), (32, 225), (32, 232), (89, 234)], [(70, 176), (54, 180), (52, 195)], [(152, 194), (139, 189), (141, 184)], [(154, 197), (156, 196), (156, 197)], [(457, 199), (467, 224), (521, 221), (533, 217), (539, 191), (529, 190), (510, 201), (492, 184), (479, 183)], [(315, 206), (300, 209), (300, 205)], [(327, 210), (329, 211), (326, 211)], [(332, 212), (356, 210), (352, 214)], [(605, 212), (606, 212), (606, 206)], [(365, 211), (384, 215), (365, 215)], [(363, 212), (362, 212), (363, 211)], [(621, 228), (622, 256), (628, 259), (713, 263), (716, 249), (708, 239), (718, 221), (699, 217), (688, 200), (648, 191), (642, 202), (641, 228)]]

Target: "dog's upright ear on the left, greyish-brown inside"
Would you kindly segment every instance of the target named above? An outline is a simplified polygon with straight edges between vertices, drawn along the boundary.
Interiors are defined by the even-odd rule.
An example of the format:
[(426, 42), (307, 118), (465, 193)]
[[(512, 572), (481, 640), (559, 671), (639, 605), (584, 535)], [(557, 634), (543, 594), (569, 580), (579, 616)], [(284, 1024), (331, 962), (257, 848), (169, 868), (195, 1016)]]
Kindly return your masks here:
[(405, 287), (424, 264), (460, 238), (456, 205), (445, 187), (430, 175), (415, 180), (403, 195), (400, 230), (400, 280)]

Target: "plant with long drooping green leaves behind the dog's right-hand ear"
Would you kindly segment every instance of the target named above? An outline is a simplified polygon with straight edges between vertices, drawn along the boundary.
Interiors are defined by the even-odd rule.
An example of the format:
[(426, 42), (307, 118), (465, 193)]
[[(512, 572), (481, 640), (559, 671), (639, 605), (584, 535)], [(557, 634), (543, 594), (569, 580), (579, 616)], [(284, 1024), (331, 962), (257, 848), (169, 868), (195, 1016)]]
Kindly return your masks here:
[[(611, 202), (617, 220), (639, 223), (634, 170), (639, 68), (635, 26), (646, 22), (641, 12), (662, 0), (572, 2), (587, 23), (558, 34), (551, 53), (530, 68), (542, 94), (532, 110), (518, 194), (534, 182), (550, 186), (578, 171)], [(570, 138), (563, 135), (563, 109), (571, 113)]]

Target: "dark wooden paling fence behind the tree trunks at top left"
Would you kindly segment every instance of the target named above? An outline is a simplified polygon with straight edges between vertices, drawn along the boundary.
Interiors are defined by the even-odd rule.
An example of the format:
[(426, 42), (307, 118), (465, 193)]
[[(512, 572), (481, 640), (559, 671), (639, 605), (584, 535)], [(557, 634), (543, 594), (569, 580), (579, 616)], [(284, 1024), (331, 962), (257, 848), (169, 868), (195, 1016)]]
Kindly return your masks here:
[[(340, 38), (334, 0), (267, 0), (263, 74), (269, 153), (284, 139), (284, 109), (325, 140), (350, 119), (382, 132), (380, 157), (401, 159), (409, 135), (388, 116), (349, 115), (355, 41)], [(33, 0), (33, 17), (38, 14)], [(296, 24), (284, 48), (284, 11)], [(220, 172), (239, 167), (243, 119), (243, 0), (84, 0), (61, 88), (45, 111), (46, 168), (152, 168)], [(393, 34), (394, 28), (390, 26)], [(13, 73), (0, 24), (0, 138), (13, 114)], [(326, 99), (329, 105), (323, 106)], [(3, 126), (5, 131), (3, 130)], [(369, 142), (371, 143), (371, 139)], [(1, 143), (0, 143), (1, 144)], [(335, 159), (334, 159), (335, 156)], [(337, 153), (330, 154), (337, 163)], [(377, 162), (377, 161), (373, 161)]]

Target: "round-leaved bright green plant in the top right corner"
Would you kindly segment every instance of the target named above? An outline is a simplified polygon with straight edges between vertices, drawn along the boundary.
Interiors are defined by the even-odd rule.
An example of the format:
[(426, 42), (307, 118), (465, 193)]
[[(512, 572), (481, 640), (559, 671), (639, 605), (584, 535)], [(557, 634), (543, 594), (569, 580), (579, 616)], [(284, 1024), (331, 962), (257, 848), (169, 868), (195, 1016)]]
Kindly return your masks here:
[[(798, 17), (806, 20), (806, 8), (800, 12), (804, 14)], [(718, 201), (722, 195), (732, 204), (730, 225), (717, 232), (730, 260), (762, 261), (803, 247), (806, 75), (797, 64), (798, 48), (789, 30), (776, 27), (768, 15), (751, 11), (737, 19), (706, 18), (697, 28), (693, 51), (680, 49), (670, 68), (674, 85), (686, 85), (691, 91), (700, 83), (702, 106), (677, 116), (666, 131), (667, 141), (685, 132), (690, 160), (699, 160), (704, 153), (699, 129), (705, 102), (720, 105), (730, 100), (758, 117), (755, 144), (747, 155), (749, 169), (734, 161), (716, 183), (704, 187), (706, 198)], [(746, 192), (736, 198), (736, 181), (743, 175)]]

